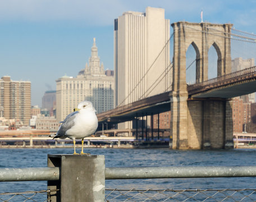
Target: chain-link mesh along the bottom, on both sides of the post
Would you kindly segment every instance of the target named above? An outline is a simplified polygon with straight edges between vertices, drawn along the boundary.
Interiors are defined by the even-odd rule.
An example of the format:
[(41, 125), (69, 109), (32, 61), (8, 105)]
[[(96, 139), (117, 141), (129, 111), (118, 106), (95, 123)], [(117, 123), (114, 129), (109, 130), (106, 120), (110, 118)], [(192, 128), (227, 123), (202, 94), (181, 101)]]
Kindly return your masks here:
[[(51, 192), (41, 190), (0, 193), (0, 201), (51, 202)], [(256, 189), (106, 189), (104, 201), (256, 201)]]

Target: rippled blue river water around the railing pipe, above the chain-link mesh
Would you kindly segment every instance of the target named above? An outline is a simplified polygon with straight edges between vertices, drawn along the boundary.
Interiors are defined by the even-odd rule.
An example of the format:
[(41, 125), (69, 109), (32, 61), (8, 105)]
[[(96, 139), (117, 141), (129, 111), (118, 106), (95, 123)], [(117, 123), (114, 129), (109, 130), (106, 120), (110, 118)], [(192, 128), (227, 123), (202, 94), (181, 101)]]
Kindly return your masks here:
[[(70, 149), (0, 149), (0, 168), (47, 167), (47, 154), (72, 154)], [(80, 150), (77, 149), (77, 152)], [(169, 150), (85, 149), (105, 155), (106, 167), (118, 166), (256, 166), (255, 149)], [(244, 189), (255, 188), (255, 178), (176, 178), (106, 180), (106, 188), (123, 189)], [(0, 182), (1, 192), (46, 190), (47, 182)]]

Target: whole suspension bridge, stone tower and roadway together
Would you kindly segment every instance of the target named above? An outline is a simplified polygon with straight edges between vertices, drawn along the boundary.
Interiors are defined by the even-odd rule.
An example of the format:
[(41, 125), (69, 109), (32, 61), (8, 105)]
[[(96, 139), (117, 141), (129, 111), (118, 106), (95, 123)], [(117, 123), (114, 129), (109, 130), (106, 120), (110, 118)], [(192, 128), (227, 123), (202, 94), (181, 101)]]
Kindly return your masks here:
[[(172, 62), (152, 84), (156, 86), (171, 71), (171, 90), (97, 114), (99, 130), (105, 124), (111, 128), (171, 111), (172, 149), (234, 148), (232, 98), (256, 91), (256, 67), (231, 72), (231, 42), (255, 44), (255, 39), (232, 34), (232, 24), (175, 22), (172, 28)], [(196, 53), (195, 83), (191, 85), (186, 82), (186, 51), (190, 45)], [(217, 77), (208, 79), (208, 51), (212, 46), (218, 57)]]

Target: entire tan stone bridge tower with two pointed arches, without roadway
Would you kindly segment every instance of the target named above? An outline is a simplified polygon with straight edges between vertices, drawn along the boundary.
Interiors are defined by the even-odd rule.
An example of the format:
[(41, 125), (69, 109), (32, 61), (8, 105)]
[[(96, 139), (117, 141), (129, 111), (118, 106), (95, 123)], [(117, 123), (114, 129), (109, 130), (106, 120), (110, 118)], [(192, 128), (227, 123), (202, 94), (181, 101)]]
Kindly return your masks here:
[(171, 99), (172, 149), (232, 148), (230, 100), (189, 100), (186, 51), (196, 52), (196, 82), (208, 80), (208, 51), (216, 49), (217, 75), (231, 73), (232, 24), (176, 22), (173, 27), (173, 83)]

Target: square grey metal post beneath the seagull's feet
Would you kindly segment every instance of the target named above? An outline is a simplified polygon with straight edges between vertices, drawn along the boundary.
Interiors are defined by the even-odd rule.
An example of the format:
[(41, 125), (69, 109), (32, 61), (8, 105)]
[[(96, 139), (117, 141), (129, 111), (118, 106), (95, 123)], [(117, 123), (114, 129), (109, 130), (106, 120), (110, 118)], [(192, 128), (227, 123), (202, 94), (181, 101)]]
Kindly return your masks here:
[(48, 189), (58, 190), (52, 202), (104, 201), (104, 155), (48, 154), (48, 167), (60, 167), (60, 180), (48, 181)]

